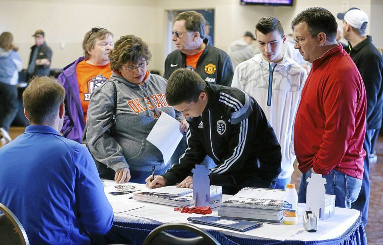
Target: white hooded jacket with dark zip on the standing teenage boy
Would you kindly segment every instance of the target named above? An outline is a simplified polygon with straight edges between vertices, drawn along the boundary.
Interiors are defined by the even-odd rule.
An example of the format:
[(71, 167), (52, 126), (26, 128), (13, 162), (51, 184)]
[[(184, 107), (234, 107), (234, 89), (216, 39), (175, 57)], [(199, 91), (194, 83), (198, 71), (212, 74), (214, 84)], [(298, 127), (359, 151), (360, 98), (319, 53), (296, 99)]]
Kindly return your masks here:
[(294, 121), (306, 78), (306, 70), (284, 53), (279, 63), (269, 63), (257, 54), (234, 72), (231, 86), (253, 96), (274, 128), (282, 151), (279, 179), (289, 178), (294, 171)]

